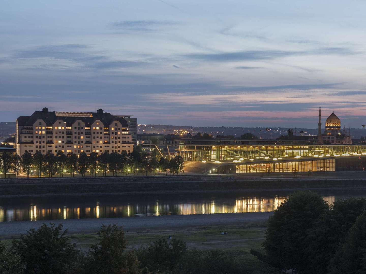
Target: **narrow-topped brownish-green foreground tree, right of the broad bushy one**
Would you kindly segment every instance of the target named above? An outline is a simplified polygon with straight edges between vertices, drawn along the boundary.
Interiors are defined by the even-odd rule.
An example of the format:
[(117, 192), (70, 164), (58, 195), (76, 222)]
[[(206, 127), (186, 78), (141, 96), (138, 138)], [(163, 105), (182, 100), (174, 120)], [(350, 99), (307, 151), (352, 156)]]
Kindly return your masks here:
[(138, 274), (139, 262), (134, 251), (126, 252), (123, 227), (102, 225), (97, 233), (99, 243), (90, 247), (85, 272), (93, 274)]

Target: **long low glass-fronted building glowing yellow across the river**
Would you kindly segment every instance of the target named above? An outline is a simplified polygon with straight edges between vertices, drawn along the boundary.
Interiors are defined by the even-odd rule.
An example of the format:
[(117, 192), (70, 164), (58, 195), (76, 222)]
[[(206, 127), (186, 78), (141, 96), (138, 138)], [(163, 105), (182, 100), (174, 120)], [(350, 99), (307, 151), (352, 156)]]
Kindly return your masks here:
[(366, 145), (316, 145), (277, 141), (179, 140), (157, 145), (180, 155), (187, 171), (205, 173), (309, 172), (365, 170)]

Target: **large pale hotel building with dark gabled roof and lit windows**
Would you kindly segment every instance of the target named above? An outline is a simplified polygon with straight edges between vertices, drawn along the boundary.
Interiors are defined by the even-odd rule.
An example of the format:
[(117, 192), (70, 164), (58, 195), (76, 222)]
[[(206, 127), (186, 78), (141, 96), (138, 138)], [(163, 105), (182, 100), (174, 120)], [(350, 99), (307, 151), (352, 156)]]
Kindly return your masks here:
[(98, 154), (132, 152), (134, 143), (126, 119), (97, 112), (35, 111), (16, 119), (16, 149), (25, 152)]

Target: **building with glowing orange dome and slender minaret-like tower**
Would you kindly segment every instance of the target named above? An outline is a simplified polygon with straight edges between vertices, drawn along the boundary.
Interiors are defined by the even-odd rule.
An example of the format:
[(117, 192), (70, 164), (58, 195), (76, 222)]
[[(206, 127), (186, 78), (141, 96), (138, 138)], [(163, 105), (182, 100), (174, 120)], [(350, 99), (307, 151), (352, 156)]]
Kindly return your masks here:
[[(321, 132), (321, 108), (319, 108), (319, 131)], [(341, 120), (334, 113), (330, 114), (325, 120), (325, 130), (321, 134), (321, 138), (318, 138), (319, 144), (352, 144), (352, 137), (350, 132), (343, 126), (343, 131), (341, 130)]]

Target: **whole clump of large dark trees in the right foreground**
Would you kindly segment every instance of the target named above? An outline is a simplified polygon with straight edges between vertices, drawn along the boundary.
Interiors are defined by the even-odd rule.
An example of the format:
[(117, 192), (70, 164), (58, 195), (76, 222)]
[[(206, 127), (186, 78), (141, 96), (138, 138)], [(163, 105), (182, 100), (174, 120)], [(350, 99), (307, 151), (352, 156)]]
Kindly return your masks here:
[(262, 258), (300, 274), (366, 273), (365, 210), (365, 198), (329, 206), (315, 193), (291, 195), (270, 217)]

